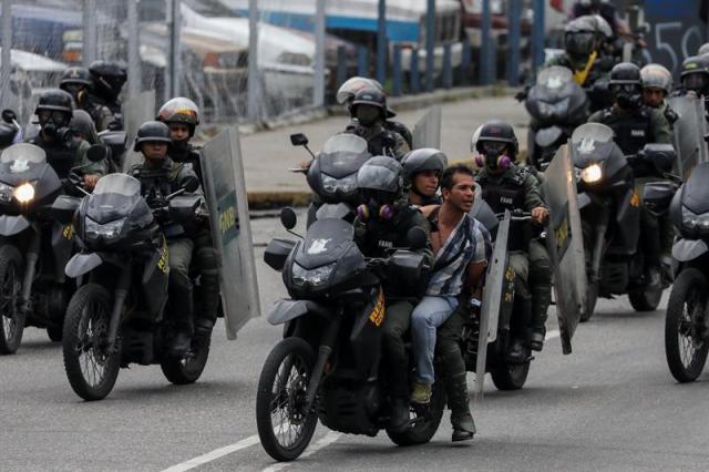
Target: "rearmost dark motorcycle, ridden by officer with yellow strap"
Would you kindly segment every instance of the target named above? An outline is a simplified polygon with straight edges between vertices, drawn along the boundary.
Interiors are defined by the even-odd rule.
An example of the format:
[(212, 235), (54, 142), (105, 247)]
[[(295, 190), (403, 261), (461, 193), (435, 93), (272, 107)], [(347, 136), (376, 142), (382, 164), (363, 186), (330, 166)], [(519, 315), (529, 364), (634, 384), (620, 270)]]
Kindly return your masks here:
[(544, 171), (574, 129), (586, 122), (588, 99), (571, 70), (554, 65), (538, 73), (524, 105), (531, 117), (527, 160)]

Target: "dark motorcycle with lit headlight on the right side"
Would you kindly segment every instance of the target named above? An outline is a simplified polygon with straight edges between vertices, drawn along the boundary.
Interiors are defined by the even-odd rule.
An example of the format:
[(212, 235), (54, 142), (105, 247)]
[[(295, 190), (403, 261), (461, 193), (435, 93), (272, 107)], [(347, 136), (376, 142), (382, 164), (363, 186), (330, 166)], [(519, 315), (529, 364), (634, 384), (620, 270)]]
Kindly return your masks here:
[(659, 287), (650, 287), (644, 276), (640, 195), (630, 165), (662, 177), (674, 164), (675, 150), (670, 144), (647, 144), (637, 155), (624, 155), (613, 136), (608, 126), (587, 123), (571, 138), (588, 277), (582, 321), (590, 318), (598, 297), (627, 294), (636, 310), (654, 310), (670, 279), (665, 266)]

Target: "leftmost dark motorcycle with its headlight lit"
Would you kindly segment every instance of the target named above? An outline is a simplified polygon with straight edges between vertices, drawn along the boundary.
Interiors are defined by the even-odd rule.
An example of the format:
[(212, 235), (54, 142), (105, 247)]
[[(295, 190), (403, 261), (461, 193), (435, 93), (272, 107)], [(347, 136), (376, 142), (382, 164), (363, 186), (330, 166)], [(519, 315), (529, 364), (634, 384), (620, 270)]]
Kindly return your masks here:
[[(89, 158), (103, 156), (90, 153)], [(0, 156), (0, 353), (17, 351), (25, 326), (47, 329), (52, 341), (62, 338), (66, 304), (75, 289), (63, 269), (73, 254), (74, 233), (71, 222), (56, 220), (54, 207), (79, 199), (61, 194), (81, 187), (73, 174), (80, 168), (62, 182), (44, 151), (27, 143)]]

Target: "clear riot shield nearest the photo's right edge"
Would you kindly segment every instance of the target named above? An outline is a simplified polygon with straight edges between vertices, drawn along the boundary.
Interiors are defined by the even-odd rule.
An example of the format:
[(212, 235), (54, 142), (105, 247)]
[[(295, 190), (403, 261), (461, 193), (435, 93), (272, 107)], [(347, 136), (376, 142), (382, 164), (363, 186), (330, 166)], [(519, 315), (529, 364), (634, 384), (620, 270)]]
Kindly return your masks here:
[(691, 170), (697, 164), (707, 162), (709, 157), (703, 140), (707, 133), (705, 101), (693, 93), (688, 93), (670, 98), (669, 106), (678, 115), (672, 130), (677, 151), (675, 172), (687, 181)]

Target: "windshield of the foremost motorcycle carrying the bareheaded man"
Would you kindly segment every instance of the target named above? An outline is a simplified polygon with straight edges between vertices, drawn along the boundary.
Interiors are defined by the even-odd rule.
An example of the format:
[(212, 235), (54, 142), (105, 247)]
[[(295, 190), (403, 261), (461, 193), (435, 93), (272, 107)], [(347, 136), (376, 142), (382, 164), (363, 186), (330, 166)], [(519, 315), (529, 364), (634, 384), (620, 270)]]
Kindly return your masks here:
[(318, 219), (308, 228), (296, 263), (314, 269), (340, 260), (352, 248), (357, 249), (354, 226), (343, 219)]

